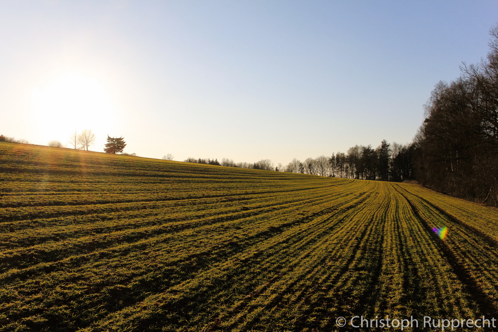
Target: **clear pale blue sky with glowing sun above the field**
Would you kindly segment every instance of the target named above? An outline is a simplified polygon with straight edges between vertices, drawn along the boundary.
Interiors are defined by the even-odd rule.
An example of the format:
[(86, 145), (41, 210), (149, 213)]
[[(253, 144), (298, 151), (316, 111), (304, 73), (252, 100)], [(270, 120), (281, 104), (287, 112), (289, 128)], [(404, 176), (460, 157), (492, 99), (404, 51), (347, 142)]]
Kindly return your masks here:
[(0, 133), (287, 164), (411, 141), (488, 51), (498, 3), (2, 1)]

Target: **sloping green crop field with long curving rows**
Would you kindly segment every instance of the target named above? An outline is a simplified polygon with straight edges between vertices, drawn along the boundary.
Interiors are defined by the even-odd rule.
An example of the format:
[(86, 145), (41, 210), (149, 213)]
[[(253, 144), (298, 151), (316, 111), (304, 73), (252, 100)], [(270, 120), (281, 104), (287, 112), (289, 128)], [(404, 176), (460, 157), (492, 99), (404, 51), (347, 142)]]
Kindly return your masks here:
[(0, 237), (0, 331), (498, 318), (498, 212), (410, 184), (0, 142)]

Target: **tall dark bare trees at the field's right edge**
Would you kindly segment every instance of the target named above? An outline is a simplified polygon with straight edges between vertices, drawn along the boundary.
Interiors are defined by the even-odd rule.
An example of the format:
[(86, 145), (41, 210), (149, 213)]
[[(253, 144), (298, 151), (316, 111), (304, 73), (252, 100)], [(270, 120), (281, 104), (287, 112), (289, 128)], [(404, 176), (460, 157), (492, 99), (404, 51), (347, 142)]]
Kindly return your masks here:
[(415, 177), (452, 196), (498, 204), (498, 26), (486, 59), (439, 82), (412, 143)]

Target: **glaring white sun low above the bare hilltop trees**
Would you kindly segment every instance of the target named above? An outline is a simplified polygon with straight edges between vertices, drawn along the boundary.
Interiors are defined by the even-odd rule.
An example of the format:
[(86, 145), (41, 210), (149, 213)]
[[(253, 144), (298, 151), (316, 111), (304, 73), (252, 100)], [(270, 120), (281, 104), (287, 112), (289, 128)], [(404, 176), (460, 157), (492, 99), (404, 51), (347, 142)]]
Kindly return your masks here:
[(105, 134), (115, 118), (109, 94), (93, 77), (65, 74), (33, 89), (31, 99), (39, 129), (63, 143), (74, 130)]

